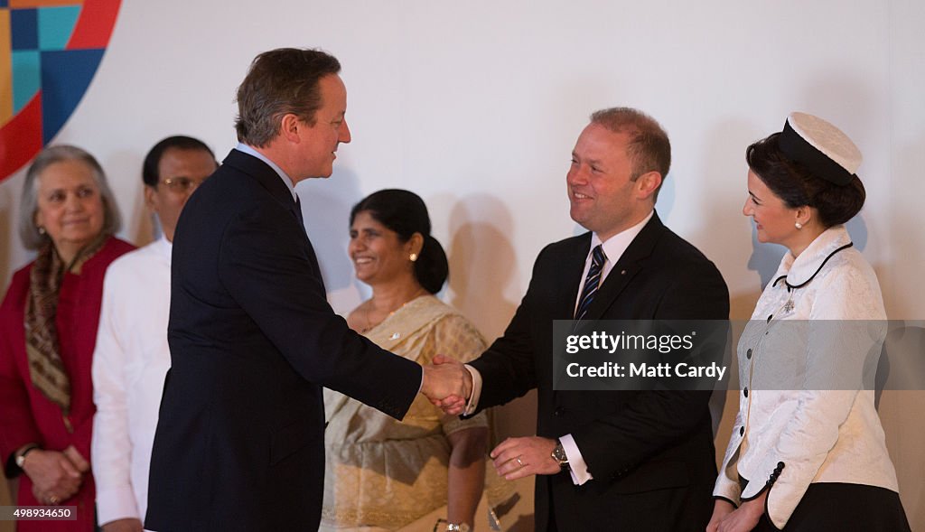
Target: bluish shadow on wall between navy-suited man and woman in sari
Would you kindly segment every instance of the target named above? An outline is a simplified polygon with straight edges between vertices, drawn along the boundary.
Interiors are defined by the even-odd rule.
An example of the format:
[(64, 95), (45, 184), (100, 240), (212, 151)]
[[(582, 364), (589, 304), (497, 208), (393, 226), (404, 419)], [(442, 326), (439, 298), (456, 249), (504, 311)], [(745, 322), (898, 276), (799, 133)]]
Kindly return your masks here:
[(347, 256), (350, 242), (350, 209), (363, 199), (359, 179), (349, 169), (338, 168), (329, 179), (304, 179), (296, 186), (302, 202), (305, 230), (321, 265), (328, 292), (351, 287), (353, 265)]

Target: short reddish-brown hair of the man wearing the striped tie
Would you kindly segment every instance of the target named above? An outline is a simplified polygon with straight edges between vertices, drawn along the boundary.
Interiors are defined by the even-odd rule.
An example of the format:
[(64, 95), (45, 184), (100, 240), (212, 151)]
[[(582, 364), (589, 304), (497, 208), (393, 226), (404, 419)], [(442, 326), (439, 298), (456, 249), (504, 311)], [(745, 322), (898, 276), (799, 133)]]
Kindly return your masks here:
[[(633, 162), (632, 180), (651, 171), (659, 172), (662, 182), (668, 177), (668, 169), (672, 167), (672, 143), (655, 118), (632, 107), (611, 107), (595, 111), (591, 123), (630, 136), (626, 154)], [(661, 185), (655, 191), (656, 200), (660, 189)]]

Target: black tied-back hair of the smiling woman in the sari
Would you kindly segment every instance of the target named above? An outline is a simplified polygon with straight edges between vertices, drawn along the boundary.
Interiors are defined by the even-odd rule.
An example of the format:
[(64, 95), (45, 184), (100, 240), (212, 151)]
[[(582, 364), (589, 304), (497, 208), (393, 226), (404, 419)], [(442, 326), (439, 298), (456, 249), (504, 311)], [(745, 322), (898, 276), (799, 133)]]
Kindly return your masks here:
[(430, 236), (430, 217), (427, 205), (414, 192), (385, 189), (373, 192), (353, 205), (350, 223), (358, 214), (369, 213), (373, 219), (398, 233), (402, 242), (409, 241), (414, 233), (424, 237), (424, 247), (414, 262), (414, 278), (426, 291), (437, 293), (450, 274), (450, 265), (443, 246)]

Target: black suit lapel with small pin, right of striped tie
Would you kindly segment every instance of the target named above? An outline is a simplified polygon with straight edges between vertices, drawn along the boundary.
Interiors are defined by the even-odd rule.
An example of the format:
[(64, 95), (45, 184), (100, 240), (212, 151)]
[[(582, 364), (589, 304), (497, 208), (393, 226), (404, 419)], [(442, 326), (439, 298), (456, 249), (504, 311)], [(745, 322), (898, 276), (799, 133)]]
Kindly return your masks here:
[(600, 286), (598, 293), (594, 296), (594, 301), (587, 309), (585, 319), (600, 319), (611, 308), (611, 305), (629, 286), (630, 281), (645, 266), (646, 259), (652, 254), (664, 229), (665, 226), (662, 225), (659, 215), (653, 213), (652, 218), (630, 242), (629, 247), (613, 265), (611, 273), (604, 279), (604, 284)]

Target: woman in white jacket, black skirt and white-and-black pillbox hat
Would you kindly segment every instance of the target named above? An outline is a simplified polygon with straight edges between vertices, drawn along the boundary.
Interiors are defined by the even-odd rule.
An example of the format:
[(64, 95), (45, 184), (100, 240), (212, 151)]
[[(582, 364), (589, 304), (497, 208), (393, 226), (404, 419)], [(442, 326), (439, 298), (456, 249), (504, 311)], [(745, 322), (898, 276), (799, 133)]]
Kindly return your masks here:
[(861, 155), (793, 113), (746, 151), (761, 242), (789, 250), (738, 344), (742, 390), (708, 532), (907, 531), (874, 395), (886, 313), (842, 225), (864, 204)]

